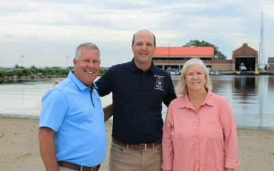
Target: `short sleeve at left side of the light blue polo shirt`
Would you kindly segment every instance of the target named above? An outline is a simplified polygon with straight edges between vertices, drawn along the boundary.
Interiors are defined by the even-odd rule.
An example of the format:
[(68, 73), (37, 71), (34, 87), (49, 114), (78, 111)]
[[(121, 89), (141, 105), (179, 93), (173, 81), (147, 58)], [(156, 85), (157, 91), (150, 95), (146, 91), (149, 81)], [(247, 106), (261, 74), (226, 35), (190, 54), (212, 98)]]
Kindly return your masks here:
[(66, 96), (60, 90), (50, 90), (42, 97), (40, 127), (49, 127), (58, 131), (69, 109)]

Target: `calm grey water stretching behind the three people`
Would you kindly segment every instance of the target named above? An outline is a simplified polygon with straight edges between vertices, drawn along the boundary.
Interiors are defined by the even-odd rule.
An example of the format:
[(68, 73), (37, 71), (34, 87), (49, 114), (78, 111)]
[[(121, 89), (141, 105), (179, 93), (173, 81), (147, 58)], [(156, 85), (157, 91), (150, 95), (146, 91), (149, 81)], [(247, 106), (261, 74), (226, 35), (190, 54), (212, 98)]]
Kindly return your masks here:
[[(172, 78), (177, 85), (179, 76)], [(38, 119), (41, 98), (54, 80), (0, 81), (0, 116)], [(229, 101), (238, 128), (274, 130), (273, 76), (212, 76), (210, 80), (213, 92)], [(103, 107), (112, 103), (112, 94), (101, 98), (101, 102)], [(166, 111), (163, 105), (163, 119)]]

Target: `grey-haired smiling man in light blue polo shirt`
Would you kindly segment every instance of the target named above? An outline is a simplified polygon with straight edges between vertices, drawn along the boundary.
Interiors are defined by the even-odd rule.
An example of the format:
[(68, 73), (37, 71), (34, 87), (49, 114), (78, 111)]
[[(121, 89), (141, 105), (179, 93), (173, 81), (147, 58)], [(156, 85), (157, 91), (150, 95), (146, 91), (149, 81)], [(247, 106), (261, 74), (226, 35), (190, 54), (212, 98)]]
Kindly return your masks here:
[(80, 44), (75, 71), (42, 97), (39, 124), (40, 154), (47, 171), (97, 171), (107, 150), (104, 113), (97, 86), (100, 52)]

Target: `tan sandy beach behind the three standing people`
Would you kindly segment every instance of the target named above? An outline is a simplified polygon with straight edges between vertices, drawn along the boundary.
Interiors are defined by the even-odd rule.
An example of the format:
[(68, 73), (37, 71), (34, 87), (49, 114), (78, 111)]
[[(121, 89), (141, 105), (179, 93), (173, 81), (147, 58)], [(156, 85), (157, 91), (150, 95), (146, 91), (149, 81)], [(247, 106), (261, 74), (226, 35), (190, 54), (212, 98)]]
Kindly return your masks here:
[[(45, 170), (39, 153), (39, 120), (0, 118), (0, 171)], [(108, 171), (112, 123), (105, 123), (108, 152), (100, 170)], [(274, 170), (274, 131), (238, 129), (239, 171)]]

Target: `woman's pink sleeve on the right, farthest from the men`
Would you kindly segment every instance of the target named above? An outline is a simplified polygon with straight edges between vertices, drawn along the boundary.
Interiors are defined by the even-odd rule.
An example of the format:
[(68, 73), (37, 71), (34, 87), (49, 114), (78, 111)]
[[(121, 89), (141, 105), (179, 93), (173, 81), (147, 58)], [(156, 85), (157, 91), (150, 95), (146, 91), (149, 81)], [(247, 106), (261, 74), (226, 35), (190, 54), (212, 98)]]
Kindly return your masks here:
[(225, 168), (236, 169), (239, 167), (238, 140), (236, 122), (232, 109), (227, 99), (223, 101), (221, 120), (223, 124), (223, 135), (225, 137)]

